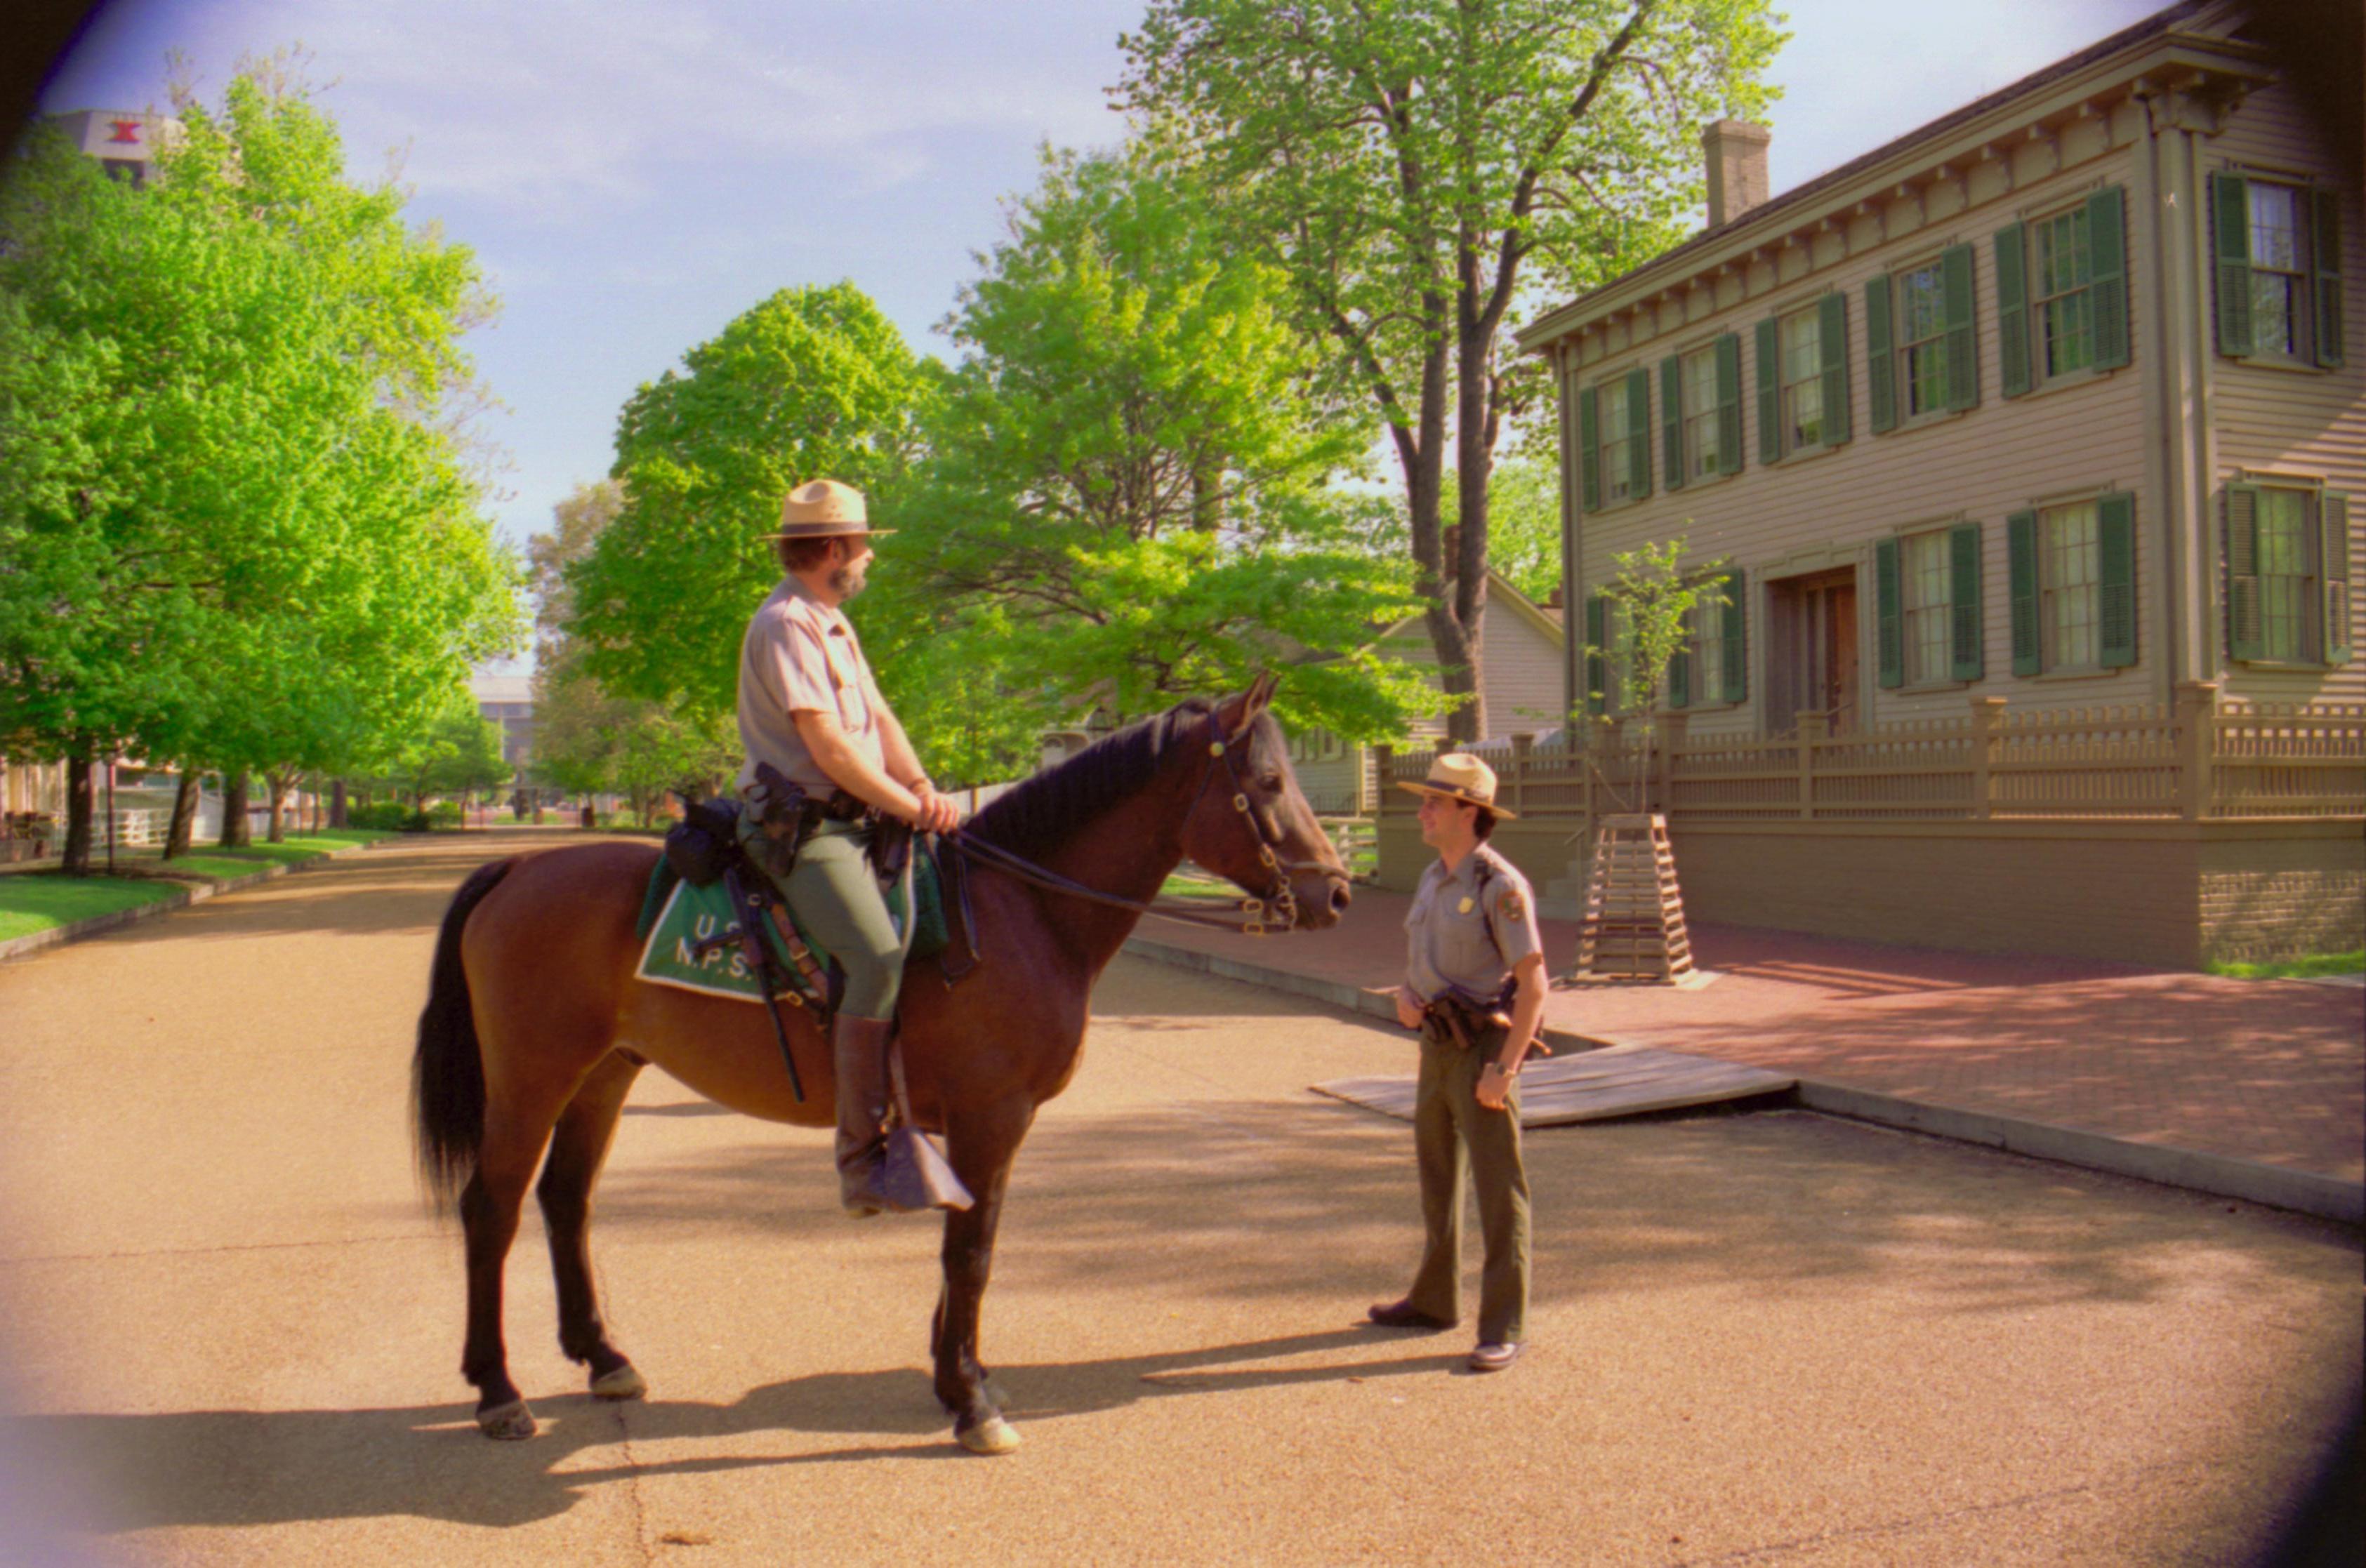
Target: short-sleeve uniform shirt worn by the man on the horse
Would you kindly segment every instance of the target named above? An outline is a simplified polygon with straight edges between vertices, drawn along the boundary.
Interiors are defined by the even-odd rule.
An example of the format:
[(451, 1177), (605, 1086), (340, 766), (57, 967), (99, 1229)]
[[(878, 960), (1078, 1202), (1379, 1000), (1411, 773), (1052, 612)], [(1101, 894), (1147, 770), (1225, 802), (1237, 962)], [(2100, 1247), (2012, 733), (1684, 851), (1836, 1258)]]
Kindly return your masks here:
[(880, 688), (854, 627), (840, 610), (807, 594), (802, 582), (783, 577), (748, 620), (748, 636), (741, 641), (738, 719), (748, 752), (738, 771), (743, 792), (755, 783), (759, 762), (807, 790), (828, 795), (838, 788), (797, 733), (793, 714), (800, 710), (835, 714), (847, 743), (885, 771)]

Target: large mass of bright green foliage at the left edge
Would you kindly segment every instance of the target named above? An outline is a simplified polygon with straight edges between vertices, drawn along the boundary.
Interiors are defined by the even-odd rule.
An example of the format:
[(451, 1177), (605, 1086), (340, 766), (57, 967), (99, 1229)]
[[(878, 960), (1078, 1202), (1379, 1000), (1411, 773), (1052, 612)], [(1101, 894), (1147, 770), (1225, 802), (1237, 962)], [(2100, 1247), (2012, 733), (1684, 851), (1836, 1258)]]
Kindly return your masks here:
[(144, 189), (57, 135), (0, 187), (0, 733), (355, 766), (516, 629), (454, 428), (490, 300), (272, 69), (180, 121)]

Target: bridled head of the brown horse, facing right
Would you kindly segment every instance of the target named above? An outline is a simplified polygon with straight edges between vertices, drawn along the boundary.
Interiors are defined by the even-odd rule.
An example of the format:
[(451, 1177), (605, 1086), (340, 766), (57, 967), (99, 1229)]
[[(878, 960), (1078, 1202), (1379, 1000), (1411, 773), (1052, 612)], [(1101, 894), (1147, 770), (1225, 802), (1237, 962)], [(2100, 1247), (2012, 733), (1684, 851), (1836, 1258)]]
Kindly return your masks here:
[(1275, 920), (1318, 932), (1346, 911), (1346, 866), (1299, 795), (1268, 702), (1273, 676), (1261, 674), (1209, 714), (1209, 776), (1183, 823), (1183, 854), (1266, 899)]

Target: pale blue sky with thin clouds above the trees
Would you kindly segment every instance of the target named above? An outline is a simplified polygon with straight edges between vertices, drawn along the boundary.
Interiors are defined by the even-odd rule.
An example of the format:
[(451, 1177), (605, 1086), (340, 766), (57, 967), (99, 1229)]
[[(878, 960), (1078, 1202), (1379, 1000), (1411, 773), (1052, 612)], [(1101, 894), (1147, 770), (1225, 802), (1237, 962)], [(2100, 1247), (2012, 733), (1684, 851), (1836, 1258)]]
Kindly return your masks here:
[[(2047, 66), (2167, 0), (1791, 0), (1772, 192)], [(618, 409), (795, 284), (852, 279), (925, 352), (1039, 149), (1114, 144), (1117, 38), (1143, 0), (116, 0), (45, 111), (163, 106), (168, 54), (218, 97), (286, 45), (348, 170), (476, 248), (471, 333), (504, 409), (513, 544), (608, 473)]]

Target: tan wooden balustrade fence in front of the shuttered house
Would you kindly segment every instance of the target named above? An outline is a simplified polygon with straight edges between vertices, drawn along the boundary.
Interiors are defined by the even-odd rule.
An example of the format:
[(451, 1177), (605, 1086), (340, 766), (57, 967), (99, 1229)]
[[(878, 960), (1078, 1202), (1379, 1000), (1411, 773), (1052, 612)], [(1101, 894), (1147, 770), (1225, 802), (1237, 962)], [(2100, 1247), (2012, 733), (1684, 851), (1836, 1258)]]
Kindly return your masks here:
[[(1649, 728), (1644, 726), (1649, 724)], [(2172, 705), (2013, 712), (1973, 698), (1961, 719), (1831, 733), (1801, 714), (1791, 736), (1692, 736), (1687, 714), (1595, 726), (1588, 738), (1476, 747), (1498, 799), (1521, 816), (1666, 811), (1685, 823), (1751, 821), (2219, 821), (2366, 816), (2366, 705), (2222, 702), (2212, 681)], [(1420, 780), (1431, 752), (1382, 754), (1386, 780)], [(1394, 797), (1394, 799), (1391, 799)], [(1401, 804), (1403, 802), (1403, 804)], [(1413, 797), (1382, 792), (1382, 811)]]

